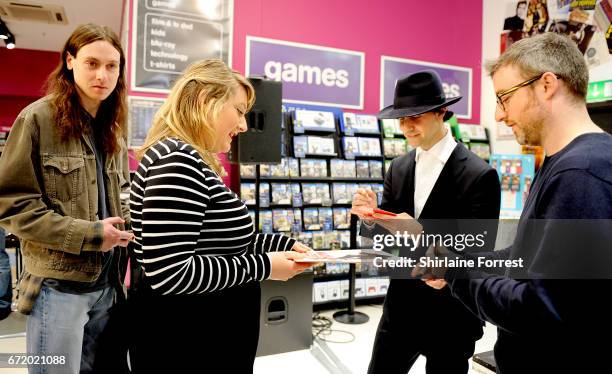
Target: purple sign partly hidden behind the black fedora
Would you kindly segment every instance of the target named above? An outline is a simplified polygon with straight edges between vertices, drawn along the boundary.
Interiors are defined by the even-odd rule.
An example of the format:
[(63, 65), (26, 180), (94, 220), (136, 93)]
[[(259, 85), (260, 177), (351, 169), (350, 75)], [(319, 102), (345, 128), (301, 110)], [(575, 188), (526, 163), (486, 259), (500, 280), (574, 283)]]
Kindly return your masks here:
[(401, 77), (421, 70), (435, 70), (442, 79), (447, 99), (462, 96), (449, 107), (457, 118), (472, 118), (472, 69), (462, 66), (435, 64), (417, 60), (382, 56), (380, 62), (380, 107), (393, 104), (395, 83)]

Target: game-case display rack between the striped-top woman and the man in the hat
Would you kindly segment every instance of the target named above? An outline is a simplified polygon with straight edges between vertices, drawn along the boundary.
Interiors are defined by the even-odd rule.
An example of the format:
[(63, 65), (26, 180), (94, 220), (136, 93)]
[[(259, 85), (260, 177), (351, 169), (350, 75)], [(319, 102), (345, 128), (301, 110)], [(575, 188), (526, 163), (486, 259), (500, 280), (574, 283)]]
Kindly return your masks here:
[[(382, 198), (385, 157), (379, 122), (375, 116), (337, 108), (284, 109), (282, 160), (259, 166), (259, 230), (285, 233), (316, 250), (350, 248), (356, 190), (369, 188)], [(240, 195), (253, 217), (256, 183), (255, 165), (240, 165)], [(348, 266), (340, 268), (316, 267), (315, 280), (323, 284), (318, 287), (335, 282), (333, 277), (346, 277)], [(359, 288), (357, 296), (363, 291), (364, 297), (380, 297), (380, 287), (370, 288), (369, 293), (365, 286)], [(340, 299), (319, 296), (315, 302), (332, 300)]]

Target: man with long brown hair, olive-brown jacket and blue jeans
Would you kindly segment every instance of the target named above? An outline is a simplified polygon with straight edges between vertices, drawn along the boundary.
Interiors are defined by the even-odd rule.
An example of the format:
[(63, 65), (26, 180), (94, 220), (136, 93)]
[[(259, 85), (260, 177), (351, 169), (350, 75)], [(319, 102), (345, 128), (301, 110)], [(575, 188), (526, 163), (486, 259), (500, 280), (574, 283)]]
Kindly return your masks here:
[(0, 158), (0, 225), (22, 241), (18, 309), (30, 373), (92, 372), (96, 342), (121, 297), (131, 234), (119, 193), (127, 171), (125, 58), (108, 27), (79, 26), (23, 109)]

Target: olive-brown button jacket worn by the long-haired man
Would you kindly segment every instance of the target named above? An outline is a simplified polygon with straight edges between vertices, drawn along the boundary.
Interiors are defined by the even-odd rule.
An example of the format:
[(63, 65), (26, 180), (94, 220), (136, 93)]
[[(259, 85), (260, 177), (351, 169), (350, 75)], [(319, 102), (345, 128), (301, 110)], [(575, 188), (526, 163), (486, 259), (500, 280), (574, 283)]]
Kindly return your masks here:
[[(129, 188), (124, 139), (120, 146), (120, 152), (106, 158), (104, 178), (110, 215), (129, 224), (129, 206), (119, 197)], [(97, 217), (96, 179), (89, 137), (62, 141), (49, 97), (23, 109), (0, 157), (0, 226), (21, 239), (23, 254), (20, 311), (29, 313), (44, 278), (93, 282), (100, 275), (103, 227)], [(120, 285), (127, 252), (114, 250), (117, 271), (112, 274)]]

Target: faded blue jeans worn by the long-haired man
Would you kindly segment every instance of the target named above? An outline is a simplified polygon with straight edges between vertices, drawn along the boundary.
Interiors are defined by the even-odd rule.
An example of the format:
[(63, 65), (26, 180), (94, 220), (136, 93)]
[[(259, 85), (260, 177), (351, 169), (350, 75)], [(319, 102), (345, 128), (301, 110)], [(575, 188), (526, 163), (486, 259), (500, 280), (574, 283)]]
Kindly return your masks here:
[(71, 294), (44, 286), (28, 316), (27, 351), (63, 355), (65, 365), (32, 365), (29, 374), (92, 373), (98, 336), (108, 322), (115, 291)]

